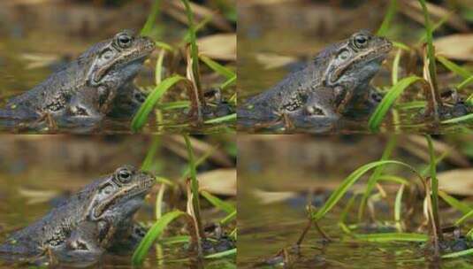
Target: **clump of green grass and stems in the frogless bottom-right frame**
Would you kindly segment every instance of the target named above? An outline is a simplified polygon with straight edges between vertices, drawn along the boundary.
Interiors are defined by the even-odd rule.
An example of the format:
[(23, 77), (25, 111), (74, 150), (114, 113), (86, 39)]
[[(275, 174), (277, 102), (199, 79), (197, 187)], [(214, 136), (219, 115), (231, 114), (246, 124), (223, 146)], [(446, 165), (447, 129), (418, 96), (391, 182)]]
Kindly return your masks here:
[[(440, 220), (439, 215), (439, 197), (446, 201), (447, 204), (454, 207), (454, 209), (457, 209), (458, 211), (462, 212), (462, 217), (454, 222), (455, 228), (460, 227), (460, 225), (466, 219), (473, 218), (473, 208), (471, 208), (468, 204), (464, 204), (461, 201), (456, 200), (454, 197), (448, 196), (446, 195), (446, 193), (439, 191), (437, 165), (439, 163), (439, 160), (444, 158), (445, 155), (442, 155), (440, 158), (437, 158), (435, 155), (431, 136), (426, 135), (425, 139), (428, 144), (430, 158), (428, 168), (425, 171), (420, 171), (406, 162), (390, 159), (390, 156), (393, 152), (393, 148), (396, 145), (396, 136), (392, 136), (387, 142), (385, 151), (380, 160), (371, 162), (366, 165), (362, 165), (357, 168), (353, 173), (350, 173), (347, 178), (345, 178), (339, 184), (339, 187), (332, 192), (332, 195), (326, 200), (326, 202), (321, 208), (318, 208), (316, 210), (311, 205), (308, 206), (308, 223), (302, 229), (301, 235), (299, 239), (295, 242), (294, 248), (292, 248), (292, 250), (295, 249), (297, 250), (297, 252), (299, 252), (301, 243), (307, 236), (309, 228), (312, 227), (312, 225), (315, 225), (317, 227), (318, 234), (321, 234), (321, 236), (324, 238), (324, 242), (326, 243), (345, 240), (344, 238), (329, 237), (329, 235), (325, 234), (322, 228), (318, 225), (318, 222), (324, 219), (325, 215), (329, 211), (332, 211), (332, 208), (339, 203), (343, 196), (347, 194), (349, 188), (351, 188), (357, 181), (360, 181), (363, 178), (363, 175), (369, 173), (370, 171), (374, 171), (373, 173), (371, 173), (371, 176), (368, 180), (368, 184), (364, 188), (364, 191), (362, 193), (355, 193), (352, 197), (350, 197), (350, 199), (347, 201), (347, 204), (345, 205), (345, 208), (339, 214), (339, 227), (345, 234), (347, 234), (350, 240), (368, 242), (431, 242), (431, 244), (426, 245), (425, 253), (427, 255), (427, 258), (433, 258), (434, 260), (438, 260), (440, 258), (461, 257), (473, 254), (473, 250), (471, 249), (456, 252), (452, 251), (450, 253), (442, 253), (440, 245), (442, 243), (445, 243), (448, 239), (444, 238), (444, 234), (446, 233), (447, 229), (442, 229), (441, 227), (442, 222)], [(402, 195), (404, 193), (405, 188), (415, 188), (416, 184), (414, 184), (415, 182), (410, 182), (401, 177), (384, 173), (384, 167), (386, 165), (400, 165), (401, 167), (407, 168), (408, 171), (414, 173), (415, 178), (418, 180), (418, 182), (421, 183), (423, 187), (423, 211), (425, 212), (424, 219), (425, 223), (429, 227), (429, 235), (404, 232), (404, 228), (401, 226), (401, 207), (408, 207), (409, 204), (402, 204)], [(357, 200), (360, 200), (359, 198), (360, 196), (362, 196), (362, 199), (360, 200), (360, 210), (358, 211), (358, 223), (361, 223), (363, 218), (362, 208), (366, 206), (367, 200), (367, 198), (365, 197), (369, 197), (371, 190), (374, 188), (373, 186), (380, 184), (382, 181), (389, 181), (391, 183), (396, 183), (400, 185), (400, 188), (396, 192), (393, 204), (394, 226), (396, 227), (396, 230), (398, 232), (375, 234), (355, 233), (354, 227), (358, 227), (359, 225), (347, 225), (346, 222), (348, 211), (350, 211), (355, 202)], [(405, 217), (405, 219), (407, 218)], [(376, 221), (375, 219), (372, 220)], [(469, 232), (467, 233), (467, 238), (469, 238), (469, 240), (473, 240), (473, 228), (469, 229)], [(430, 245), (432, 246), (432, 248), (429, 248)], [(291, 258), (288, 257), (288, 253), (289, 252), (287, 251), (287, 249), (278, 251), (278, 254), (275, 257), (271, 258), (271, 262), (277, 261), (285, 263), (287, 261), (290, 261)], [(431, 253), (431, 255), (429, 255), (428, 253)]]

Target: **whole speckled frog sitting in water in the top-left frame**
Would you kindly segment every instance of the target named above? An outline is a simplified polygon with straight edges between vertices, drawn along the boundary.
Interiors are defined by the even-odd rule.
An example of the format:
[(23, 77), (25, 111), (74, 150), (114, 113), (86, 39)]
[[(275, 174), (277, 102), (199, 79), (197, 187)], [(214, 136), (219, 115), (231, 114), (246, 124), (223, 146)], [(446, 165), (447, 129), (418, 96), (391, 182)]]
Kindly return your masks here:
[(99, 42), (41, 84), (15, 96), (0, 119), (97, 122), (104, 116), (132, 116), (142, 103), (133, 79), (155, 49), (148, 37), (125, 30)]

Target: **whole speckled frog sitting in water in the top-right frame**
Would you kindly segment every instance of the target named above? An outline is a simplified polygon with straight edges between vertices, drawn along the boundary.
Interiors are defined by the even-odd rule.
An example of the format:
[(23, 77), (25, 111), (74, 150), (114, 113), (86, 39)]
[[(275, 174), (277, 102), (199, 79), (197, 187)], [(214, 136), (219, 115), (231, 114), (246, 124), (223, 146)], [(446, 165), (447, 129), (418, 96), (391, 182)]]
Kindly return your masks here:
[(358, 104), (373, 107), (380, 96), (370, 87), (393, 44), (368, 31), (332, 44), (300, 71), (254, 96), (238, 111), (240, 124), (289, 119), (294, 124), (333, 122)]

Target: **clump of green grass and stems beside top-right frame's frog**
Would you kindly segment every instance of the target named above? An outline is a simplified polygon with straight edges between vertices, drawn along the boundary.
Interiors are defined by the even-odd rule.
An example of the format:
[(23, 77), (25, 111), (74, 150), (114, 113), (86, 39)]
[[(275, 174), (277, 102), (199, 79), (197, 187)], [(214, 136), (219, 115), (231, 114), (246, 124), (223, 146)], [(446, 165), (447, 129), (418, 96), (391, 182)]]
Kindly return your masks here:
[[(439, 91), (439, 83), (437, 78), (437, 61), (444, 65), (446, 69), (450, 70), (454, 74), (462, 77), (464, 81), (454, 86), (456, 91), (461, 91), (469, 83), (473, 82), (473, 73), (470, 73), (467, 69), (462, 66), (454, 64), (454, 62), (448, 60), (447, 58), (436, 54), (435, 47), (433, 45), (433, 31), (441, 27), (452, 15), (451, 13), (446, 14), (443, 18), (439, 19), (439, 22), (432, 26), (431, 19), (429, 16), (429, 11), (424, 0), (418, 0), (423, 12), (423, 25), (425, 28), (425, 33), (415, 45), (415, 47), (410, 48), (408, 45), (405, 45), (401, 42), (393, 42), (394, 46), (398, 48), (396, 55), (393, 60), (393, 70), (392, 70), (392, 82), (393, 86), (388, 89), (387, 94), (383, 98), (376, 110), (371, 114), (369, 120), (369, 127), (371, 131), (378, 131), (381, 127), (385, 115), (391, 109), (393, 113), (394, 124), (397, 126), (399, 119), (397, 117), (398, 110), (406, 111), (410, 109), (421, 109), (427, 105), (427, 109), (424, 114), (430, 116), (433, 119), (433, 125), (437, 126), (439, 124), (452, 124), (460, 123), (469, 119), (473, 119), (471, 112), (473, 111), (473, 104), (469, 102), (472, 96), (467, 96), (465, 102), (465, 110), (468, 112), (466, 115), (454, 116), (452, 119), (441, 119), (440, 114), (446, 111), (446, 104), (442, 100)], [(386, 35), (387, 30), (393, 20), (394, 14), (398, 10), (398, 1), (391, 0), (388, 10), (385, 14), (385, 19), (381, 24), (381, 27), (378, 29), (378, 35)], [(416, 57), (416, 51), (421, 51), (419, 54), (423, 58), (423, 77), (419, 77), (416, 74), (410, 74), (403, 79), (399, 79), (399, 65), (401, 60), (402, 51), (407, 51), (409, 58)], [(408, 73), (413, 73), (412, 68), (408, 68)], [(425, 96), (427, 102), (409, 102), (406, 104), (401, 104), (397, 102), (398, 98), (402, 93), (411, 85), (415, 83), (420, 83), (421, 88), (423, 88), (423, 95)], [(396, 104), (397, 103), (397, 104)]]

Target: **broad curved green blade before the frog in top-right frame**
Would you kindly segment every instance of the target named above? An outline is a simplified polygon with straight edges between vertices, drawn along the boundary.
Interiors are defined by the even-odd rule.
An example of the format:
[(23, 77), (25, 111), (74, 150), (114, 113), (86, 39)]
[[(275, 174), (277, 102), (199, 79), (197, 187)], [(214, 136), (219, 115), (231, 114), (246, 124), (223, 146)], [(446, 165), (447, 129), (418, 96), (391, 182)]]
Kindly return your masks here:
[(402, 79), (389, 90), (389, 92), (385, 95), (381, 103), (378, 104), (378, 107), (373, 112), (370, 117), (370, 121), (368, 125), (371, 131), (378, 131), (379, 126), (383, 119), (385, 119), (385, 115), (389, 108), (394, 104), (396, 99), (401, 96), (401, 93), (404, 89), (408, 88), (409, 85), (415, 83), (416, 81), (422, 81), (423, 79), (417, 76), (409, 76), (407, 78)]

